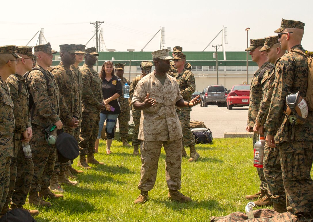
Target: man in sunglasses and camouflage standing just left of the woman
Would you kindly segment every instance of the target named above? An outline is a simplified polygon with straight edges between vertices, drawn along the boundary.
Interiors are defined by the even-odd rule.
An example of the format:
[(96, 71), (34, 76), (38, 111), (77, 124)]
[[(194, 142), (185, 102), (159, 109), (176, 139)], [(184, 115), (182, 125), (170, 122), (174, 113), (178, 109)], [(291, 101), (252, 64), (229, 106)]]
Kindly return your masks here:
[[(104, 164), (94, 157), (100, 121), (100, 109), (104, 107), (102, 81), (99, 74), (92, 68), (99, 54), (96, 48), (85, 50), (85, 64), (80, 68), (83, 80), (82, 122), (80, 126), (80, 160), (77, 166), (91, 169), (87, 163)], [(87, 155), (87, 160), (86, 160)]]

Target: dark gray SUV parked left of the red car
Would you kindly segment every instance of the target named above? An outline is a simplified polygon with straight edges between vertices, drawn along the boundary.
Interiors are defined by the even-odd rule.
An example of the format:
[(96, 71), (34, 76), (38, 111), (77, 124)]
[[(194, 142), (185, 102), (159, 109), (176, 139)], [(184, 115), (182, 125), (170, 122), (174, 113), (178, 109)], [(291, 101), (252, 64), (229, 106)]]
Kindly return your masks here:
[(208, 107), (208, 105), (226, 107), (226, 91), (226, 88), (222, 85), (209, 85), (203, 95), (203, 107)]

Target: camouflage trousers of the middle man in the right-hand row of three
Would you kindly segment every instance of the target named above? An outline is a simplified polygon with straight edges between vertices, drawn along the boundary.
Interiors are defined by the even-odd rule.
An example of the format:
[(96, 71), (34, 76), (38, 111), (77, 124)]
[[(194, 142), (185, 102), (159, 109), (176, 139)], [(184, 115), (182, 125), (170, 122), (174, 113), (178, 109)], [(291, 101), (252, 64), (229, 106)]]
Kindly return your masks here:
[(273, 203), (286, 204), (279, 150), (268, 147), (266, 144), (264, 148), (263, 172)]

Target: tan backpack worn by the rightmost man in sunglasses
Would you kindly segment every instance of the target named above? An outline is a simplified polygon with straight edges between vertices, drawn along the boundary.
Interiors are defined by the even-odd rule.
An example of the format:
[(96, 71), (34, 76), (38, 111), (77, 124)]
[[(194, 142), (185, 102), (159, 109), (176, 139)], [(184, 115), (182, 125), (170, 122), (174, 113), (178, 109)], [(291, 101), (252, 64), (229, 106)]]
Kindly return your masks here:
[(308, 63), (308, 88), (304, 99), (308, 103), (309, 111), (313, 111), (313, 52), (305, 51), (305, 53), (303, 53), (299, 49), (292, 49), (290, 52), (297, 52), (304, 55)]

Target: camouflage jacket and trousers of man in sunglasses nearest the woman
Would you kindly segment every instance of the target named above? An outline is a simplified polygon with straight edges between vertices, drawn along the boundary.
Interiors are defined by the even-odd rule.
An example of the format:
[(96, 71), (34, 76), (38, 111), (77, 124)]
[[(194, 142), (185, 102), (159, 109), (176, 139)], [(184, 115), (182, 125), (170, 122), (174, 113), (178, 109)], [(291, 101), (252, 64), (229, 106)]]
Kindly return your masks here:
[(86, 64), (80, 69), (83, 80), (82, 122), (80, 126), (80, 155), (93, 154), (100, 121), (100, 110), (103, 103), (102, 81), (98, 73)]

